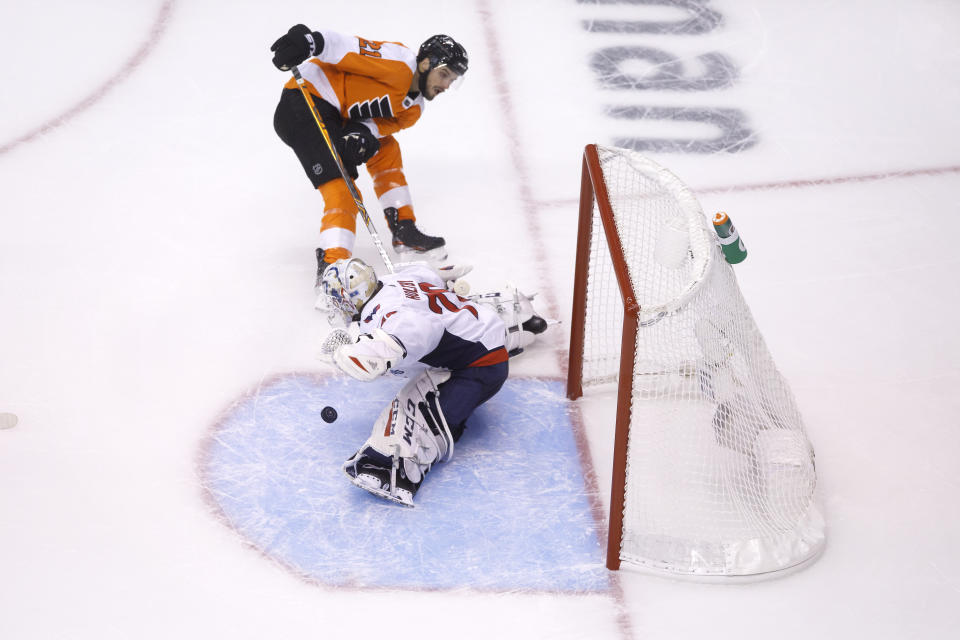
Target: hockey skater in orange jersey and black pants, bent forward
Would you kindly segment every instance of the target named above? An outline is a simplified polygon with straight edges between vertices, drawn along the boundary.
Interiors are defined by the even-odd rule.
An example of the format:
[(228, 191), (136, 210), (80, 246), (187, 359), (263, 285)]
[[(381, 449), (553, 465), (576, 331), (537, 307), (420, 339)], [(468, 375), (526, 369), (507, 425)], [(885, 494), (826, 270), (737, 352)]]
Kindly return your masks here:
[[(414, 54), (397, 42), (311, 31), (298, 24), (270, 49), (278, 69), (298, 67), (351, 177), (357, 177), (358, 165), (367, 165), (394, 249), (445, 259), (444, 239), (425, 235), (416, 226), (400, 146), (393, 134), (412, 126), (426, 100), (433, 100), (466, 73), (463, 47), (449, 36), (436, 35)], [(349, 258), (353, 252), (357, 205), (293, 78), (284, 86), (273, 124), (323, 196), (319, 282), (327, 264)]]

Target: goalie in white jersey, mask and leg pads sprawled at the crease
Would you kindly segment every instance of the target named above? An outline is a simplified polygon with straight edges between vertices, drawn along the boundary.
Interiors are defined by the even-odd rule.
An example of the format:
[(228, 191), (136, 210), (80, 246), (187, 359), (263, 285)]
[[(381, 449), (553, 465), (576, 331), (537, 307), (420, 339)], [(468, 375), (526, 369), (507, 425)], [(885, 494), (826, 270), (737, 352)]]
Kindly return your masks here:
[(410, 378), (343, 470), (354, 485), (413, 506), (426, 473), (450, 459), (467, 418), (506, 381), (511, 353), (547, 323), (516, 290), (464, 298), (426, 266), (378, 278), (362, 260), (338, 260), (321, 288), (331, 309), (360, 326), (356, 340), (334, 330), (325, 341), (337, 367), (358, 380)]

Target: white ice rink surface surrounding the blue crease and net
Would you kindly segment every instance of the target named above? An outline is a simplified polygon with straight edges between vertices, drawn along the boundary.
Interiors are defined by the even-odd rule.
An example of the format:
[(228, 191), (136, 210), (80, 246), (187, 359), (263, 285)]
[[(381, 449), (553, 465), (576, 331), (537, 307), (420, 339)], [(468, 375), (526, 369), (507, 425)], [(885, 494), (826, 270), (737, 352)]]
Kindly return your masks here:
[[(0, 432), (0, 637), (954, 637), (960, 5), (716, 0), (724, 26), (701, 36), (587, 33), (583, 19), (655, 8), (572, 0), (332, 6), (0, 6), (0, 147), (66, 116), (0, 153), (0, 411), (20, 417)], [(750, 250), (741, 287), (817, 450), (816, 564), (723, 587), (625, 571), (610, 596), (337, 591), (211, 515), (211, 424), (258, 380), (317, 367), (320, 200), (271, 126), (284, 77), (267, 48), (297, 22), (467, 46), (464, 85), (400, 137), (422, 226), (476, 265), (475, 289), (539, 289), (564, 320), (583, 145), (675, 133), (603, 107), (748, 115), (749, 151), (654, 157)], [(740, 78), (603, 91), (589, 56), (616, 44), (719, 51)], [(945, 171), (736, 189), (918, 169)], [(514, 375), (560, 376), (565, 342)], [(605, 495), (609, 430), (586, 421)]]

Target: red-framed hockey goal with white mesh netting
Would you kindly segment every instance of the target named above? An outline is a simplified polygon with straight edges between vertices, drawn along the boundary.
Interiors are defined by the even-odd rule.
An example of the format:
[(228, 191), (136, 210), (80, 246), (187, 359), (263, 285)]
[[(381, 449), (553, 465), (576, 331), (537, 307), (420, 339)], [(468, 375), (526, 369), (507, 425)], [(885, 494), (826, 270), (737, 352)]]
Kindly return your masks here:
[(617, 396), (610, 569), (757, 577), (817, 557), (813, 449), (699, 202), (651, 160), (597, 145), (568, 396), (584, 387)]

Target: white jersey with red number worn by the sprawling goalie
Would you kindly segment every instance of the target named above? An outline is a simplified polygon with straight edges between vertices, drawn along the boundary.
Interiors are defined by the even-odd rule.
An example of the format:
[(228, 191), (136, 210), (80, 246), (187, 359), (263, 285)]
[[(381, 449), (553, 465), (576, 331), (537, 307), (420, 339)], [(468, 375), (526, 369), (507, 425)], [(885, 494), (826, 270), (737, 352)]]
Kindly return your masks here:
[(360, 331), (380, 328), (400, 342), (406, 355), (393, 363), (393, 373), (411, 375), (422, 365), (455, 371), (507, 361), (500, 317), (448, 291), (432, 269), (411, 265), (380, 282), (383, 287), (363, 307)]

